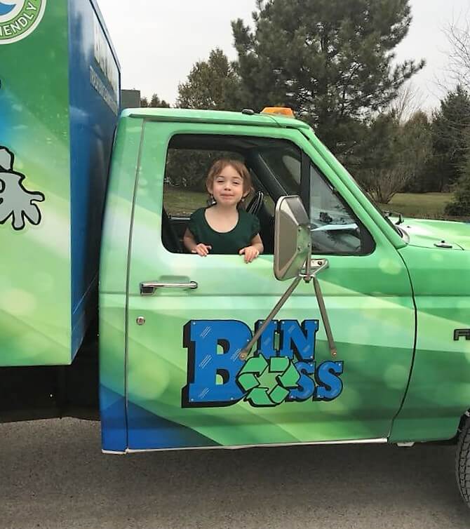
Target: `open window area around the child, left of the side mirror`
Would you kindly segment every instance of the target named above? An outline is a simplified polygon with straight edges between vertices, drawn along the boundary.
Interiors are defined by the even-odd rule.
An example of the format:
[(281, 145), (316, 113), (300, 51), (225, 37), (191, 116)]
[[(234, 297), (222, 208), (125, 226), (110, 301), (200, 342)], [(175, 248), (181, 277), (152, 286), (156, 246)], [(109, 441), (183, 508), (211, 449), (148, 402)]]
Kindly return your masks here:
[(253, 194), (244, 201), (260, 221), (264, 254), (274, 251), (274, 209), (280, 196), (300, 192), (300, 149), (288, 140), (229, 135), (180, 134), (171, 138), (163, 185), (162, 241), (186, 253), (182, 239), (189, 216), (210, 204), (208, 170), (217, 159), (241, 161), (250, 171)]

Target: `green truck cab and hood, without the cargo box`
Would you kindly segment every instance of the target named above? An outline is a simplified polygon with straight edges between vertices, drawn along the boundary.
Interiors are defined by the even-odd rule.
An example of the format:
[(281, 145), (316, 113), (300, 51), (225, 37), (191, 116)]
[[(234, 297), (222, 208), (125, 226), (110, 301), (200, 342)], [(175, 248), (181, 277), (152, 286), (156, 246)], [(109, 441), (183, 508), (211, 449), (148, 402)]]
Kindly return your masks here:
[[(182, 245), (222, 157), (254, 182), (246, 208), (265, 250), (248, 265)], [(312, 259), (328, 260), (318, 283), (337, 355), (314, 288), (300, 283), (243, 360), (286, 290), (273, 274), (285, 195), (308, 214)], [(454, 438), (470, 407), (470, 229), (438, 224), (433, 239), (429, 223), (390, 222), (291, 117), (123, 112), (100, 265), (103, 450)]]

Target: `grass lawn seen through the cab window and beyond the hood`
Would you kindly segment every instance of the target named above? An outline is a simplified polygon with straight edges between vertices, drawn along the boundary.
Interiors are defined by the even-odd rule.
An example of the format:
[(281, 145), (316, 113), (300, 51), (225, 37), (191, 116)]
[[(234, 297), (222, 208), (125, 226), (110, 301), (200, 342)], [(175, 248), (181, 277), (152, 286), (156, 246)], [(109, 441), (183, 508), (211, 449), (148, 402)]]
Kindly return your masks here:
[[(172, 215), (190, 215), (197, 208), (206, 206), (208, 194), (187, 191), (178, 187), (165, 187), (165, 208)], [(396, 211), (405, 217), (444, 219), (445, 204), (452, 200), (452, 193), (398, 193), (388, 204), (379, 204), (383, 210)], [(456, 219), (457, 220), (457, 219)]]

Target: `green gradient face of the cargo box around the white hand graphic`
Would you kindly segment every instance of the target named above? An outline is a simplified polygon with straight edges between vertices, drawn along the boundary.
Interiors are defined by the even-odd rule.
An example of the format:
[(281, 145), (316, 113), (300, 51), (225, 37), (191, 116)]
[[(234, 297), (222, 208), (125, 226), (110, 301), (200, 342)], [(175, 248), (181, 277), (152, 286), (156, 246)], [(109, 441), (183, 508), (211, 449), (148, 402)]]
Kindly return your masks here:
[[(29, 4), (39, 16), (46, 1)], [(0, 366), (70, 363), (67, 3), (49, 1), (34, 32), (0, 55), (0, 146), (25, 188), (44, 196), (39, 225), (0, 225)]]

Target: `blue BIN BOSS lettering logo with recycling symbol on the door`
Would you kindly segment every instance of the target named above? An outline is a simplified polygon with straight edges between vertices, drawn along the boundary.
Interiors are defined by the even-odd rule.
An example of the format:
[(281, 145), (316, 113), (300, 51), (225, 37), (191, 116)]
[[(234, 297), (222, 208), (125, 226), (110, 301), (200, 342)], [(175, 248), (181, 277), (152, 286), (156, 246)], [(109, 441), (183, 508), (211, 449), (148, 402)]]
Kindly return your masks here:
[[(259, 328), (262, 321), (255, 324)], [(340, 396), (343, 362), (315, 361), (318, 320), (271, 321), (248, 360), (239, 354), (253, 336), (242, 321), (196, 320), (184, 326), (188, 349), (182, 407), (251, 406), (333, 401)], [(276, 345), (277, 344), (277, 345)]]

